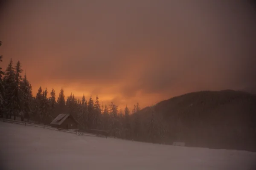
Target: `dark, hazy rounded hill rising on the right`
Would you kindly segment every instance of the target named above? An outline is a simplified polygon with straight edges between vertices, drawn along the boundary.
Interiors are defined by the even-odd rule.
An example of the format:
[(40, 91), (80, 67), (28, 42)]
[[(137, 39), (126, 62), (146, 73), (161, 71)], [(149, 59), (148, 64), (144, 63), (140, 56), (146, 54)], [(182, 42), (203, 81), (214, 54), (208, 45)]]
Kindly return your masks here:
[[(156, 116), (152, 116), (153, 112)], [(184, 94), (144, 108), (133, 115), (134, 119), (136, 115), (140, 120), (138, 140), (141, 141), (148, 139), (143, 127), (157, 122), (161, 134), (153, 142), (181, 141), (192, 147), (256, 151), (256, 95), (247, 92)]]

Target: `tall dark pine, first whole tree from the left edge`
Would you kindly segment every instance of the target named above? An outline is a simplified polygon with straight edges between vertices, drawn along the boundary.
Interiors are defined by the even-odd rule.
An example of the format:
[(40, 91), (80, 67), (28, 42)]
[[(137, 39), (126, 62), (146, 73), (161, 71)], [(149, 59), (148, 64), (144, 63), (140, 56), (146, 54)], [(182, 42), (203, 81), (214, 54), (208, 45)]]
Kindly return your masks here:
[(15, 72), (14, 68), (12, 67), (12, 59), (9, 65), (6, 68), (5, 75), (3, 78), (4, 82), (4, 89), (5, 89), (5, 98), (6, 98), (6, 118), (10, 119), (15, 108)]

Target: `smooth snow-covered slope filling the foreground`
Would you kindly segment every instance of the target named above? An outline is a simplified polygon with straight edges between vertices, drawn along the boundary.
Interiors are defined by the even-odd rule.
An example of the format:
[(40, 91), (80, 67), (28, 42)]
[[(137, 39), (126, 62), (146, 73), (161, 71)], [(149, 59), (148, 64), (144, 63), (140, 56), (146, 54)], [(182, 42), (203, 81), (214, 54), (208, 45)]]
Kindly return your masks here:
[(256, 153), (76, 136), (0, 122), (1, 170), (253, 170)]

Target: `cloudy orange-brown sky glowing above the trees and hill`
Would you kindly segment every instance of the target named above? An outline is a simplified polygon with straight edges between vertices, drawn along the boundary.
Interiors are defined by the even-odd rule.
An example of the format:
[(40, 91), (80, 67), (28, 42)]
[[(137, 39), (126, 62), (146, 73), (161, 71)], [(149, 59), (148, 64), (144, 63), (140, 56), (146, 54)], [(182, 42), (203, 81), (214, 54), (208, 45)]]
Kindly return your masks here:
[(63, 87), (124, 109), (256, 87), (256, 18), (242, 1), (12, 0), (0, 11), (1, 65), (19, 59), (34, 95)]

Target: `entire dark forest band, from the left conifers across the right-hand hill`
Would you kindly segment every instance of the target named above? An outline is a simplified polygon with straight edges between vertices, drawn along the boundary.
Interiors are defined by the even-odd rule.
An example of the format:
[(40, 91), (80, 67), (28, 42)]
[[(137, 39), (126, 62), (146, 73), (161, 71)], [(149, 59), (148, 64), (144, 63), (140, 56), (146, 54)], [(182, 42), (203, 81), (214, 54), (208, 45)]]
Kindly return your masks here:
[[(2, 57), (0, 60), (2, 61)], [(32, 85), (18, 61), (0, 68), (0, 117), (49, 124), (58, 114), (69, 113), (79, 129), (106, 130), (122, 139), (186, 146), (256, 151), (256, 95), (241, 91), (201, 91), (157, 103), (140, 110), (119, 110), (114, 103), (101, 106), (98, 96), (76, 99), (64, 90)]]

